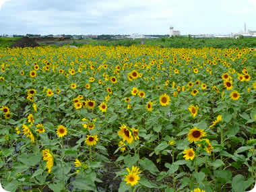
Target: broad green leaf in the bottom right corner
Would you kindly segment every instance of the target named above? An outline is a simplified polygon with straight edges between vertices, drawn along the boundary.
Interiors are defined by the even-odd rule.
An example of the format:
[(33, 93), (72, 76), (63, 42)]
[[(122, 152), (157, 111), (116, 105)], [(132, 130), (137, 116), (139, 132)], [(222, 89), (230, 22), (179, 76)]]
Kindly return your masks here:
[(250, 178), (248, 181), (245, 181), (245, 178), (242, 174), (237, 174), (232, 179), (232, 189), (234, 189), (234, 192), (240, 192), (245, 191), (251, 184), (254, 183), (254, 179)]

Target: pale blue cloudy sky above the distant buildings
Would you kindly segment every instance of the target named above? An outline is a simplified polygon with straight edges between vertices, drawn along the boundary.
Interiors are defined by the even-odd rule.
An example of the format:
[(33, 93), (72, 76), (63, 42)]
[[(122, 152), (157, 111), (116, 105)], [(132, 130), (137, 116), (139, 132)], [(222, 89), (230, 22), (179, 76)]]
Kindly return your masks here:
[(230, 34), (256, 0), (0, 0), (0, 34)]

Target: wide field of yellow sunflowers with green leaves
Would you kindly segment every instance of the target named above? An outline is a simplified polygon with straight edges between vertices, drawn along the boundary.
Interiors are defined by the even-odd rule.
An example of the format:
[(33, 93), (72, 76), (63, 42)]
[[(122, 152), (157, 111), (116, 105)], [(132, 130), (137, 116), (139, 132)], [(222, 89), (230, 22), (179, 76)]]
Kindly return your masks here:
[(0, 48), (0, 64), (7, 191), (255, 186), (253, 49)]

